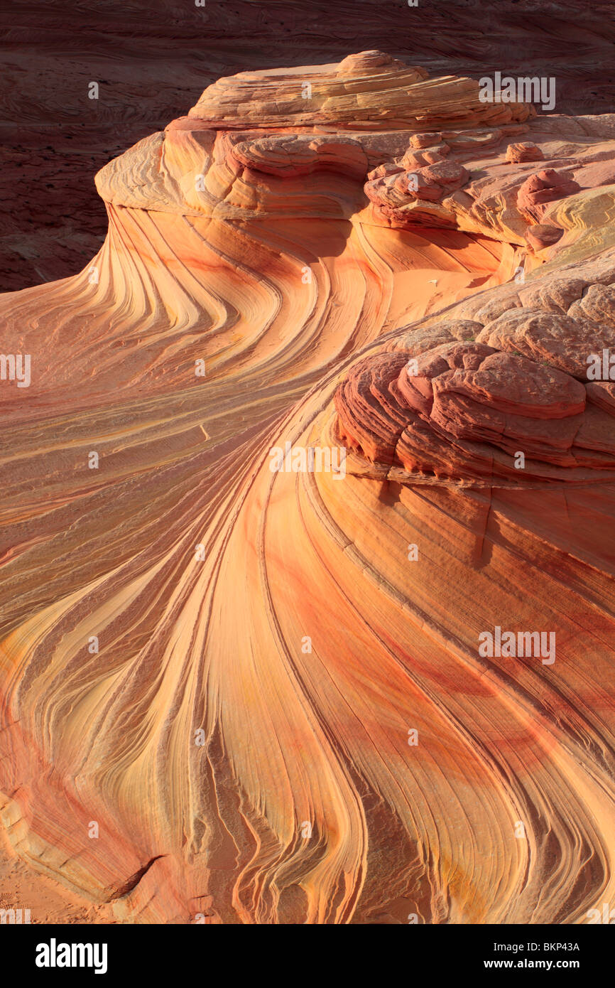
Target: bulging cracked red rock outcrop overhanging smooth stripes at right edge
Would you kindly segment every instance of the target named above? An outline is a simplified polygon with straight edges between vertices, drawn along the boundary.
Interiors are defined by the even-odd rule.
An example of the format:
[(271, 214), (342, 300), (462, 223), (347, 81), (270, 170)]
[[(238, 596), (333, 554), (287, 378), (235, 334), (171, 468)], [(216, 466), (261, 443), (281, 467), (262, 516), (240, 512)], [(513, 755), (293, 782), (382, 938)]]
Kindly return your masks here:
[(409, 483), (612, 483), (615, 384), (589, 379), (588, 358), (613, 339), (614, 283), (610, 264), (579, 269), (495, 319), (401, 337), (340, 384), (341, 440)]

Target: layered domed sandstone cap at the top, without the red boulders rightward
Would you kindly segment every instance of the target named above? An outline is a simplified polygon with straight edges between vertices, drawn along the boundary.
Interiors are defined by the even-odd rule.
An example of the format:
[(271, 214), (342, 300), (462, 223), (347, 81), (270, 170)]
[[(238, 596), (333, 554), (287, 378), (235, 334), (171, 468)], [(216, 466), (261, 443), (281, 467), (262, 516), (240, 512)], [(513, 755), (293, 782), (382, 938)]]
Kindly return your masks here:
[[(98, 191), (115, 206), (184, 215), (349, 216), (364, 204), (357, 183), (370, 169), (423, 146), (424, 134), (413, 129), (455, 125), (455, 146), (472, 148), (490, 142), (483, 131), (475, 135), (477, 125), (494, 121), (516, 132), (535, 116), (530, 104), (482, 103), (474, 80), (426, 76), (375, 51), (305, 72), (220, 79), (188, 117), (103, 168)], [(502, 136), (489, 133), (492, 142), (494, 133)], [(463, 184), (447, 177), (451, 170), (460, 171), (453, 162), (440, 165), (431, 183), (439, 178), (449, 191)]]

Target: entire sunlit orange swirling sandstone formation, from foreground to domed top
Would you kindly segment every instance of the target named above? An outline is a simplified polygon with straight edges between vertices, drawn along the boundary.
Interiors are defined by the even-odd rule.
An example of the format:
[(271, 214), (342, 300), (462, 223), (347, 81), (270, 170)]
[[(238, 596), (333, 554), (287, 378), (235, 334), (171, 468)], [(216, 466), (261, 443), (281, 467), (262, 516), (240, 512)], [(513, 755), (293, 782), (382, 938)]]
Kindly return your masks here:
[[(584, 922), (613, 120), (494, 126), (381, 52), (304, 74), (210, 87), (99, 173), (92, 264), (0, 299), (32, 360), (0, 380), (0, 817), (120, 922)], [(578, 188), (536, 223), (548, 169)], [(418, 172), (439, 198), (378, 185)]]

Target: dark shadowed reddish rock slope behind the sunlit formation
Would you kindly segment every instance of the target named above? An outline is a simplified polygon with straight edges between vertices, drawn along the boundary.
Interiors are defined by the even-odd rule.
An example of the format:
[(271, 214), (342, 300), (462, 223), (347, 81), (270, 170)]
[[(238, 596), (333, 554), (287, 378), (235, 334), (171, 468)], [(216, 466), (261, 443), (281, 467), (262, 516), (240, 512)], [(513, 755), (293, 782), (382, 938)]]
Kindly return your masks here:
[[(185, 113), (220, 76), (335, 63), (381, 47), (430, 76), (478, 80), (505, 66), (515, 77), (557, 77), (557, 114), (596, 115), (615, 105), (614, 41), (609, 4), (579, 16), (572, 0), (423, 0), (417, 8), (361, 0), (360, 17), (353, 0), (337, 0), (335, 17), (329, 0), (151, 0), (145, 14), (132, 0), (45, 0), (36, 17), (31, 3), (13, 0), (0, 41), (0, 288), (84, 267), (107, 225), (93, 174)], [(89, 99), (91, 80), (99, 100)]]

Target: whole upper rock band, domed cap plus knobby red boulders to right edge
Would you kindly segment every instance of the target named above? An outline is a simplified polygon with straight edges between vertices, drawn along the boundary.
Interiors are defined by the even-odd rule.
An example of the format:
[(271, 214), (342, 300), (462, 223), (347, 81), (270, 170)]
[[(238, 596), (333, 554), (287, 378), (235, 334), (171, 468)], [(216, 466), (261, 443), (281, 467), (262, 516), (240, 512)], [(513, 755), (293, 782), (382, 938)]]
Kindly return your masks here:
[(613, 126), (558, 118), (554, 129), (530, 104), (478, 94), (474, 80), (427, 79), (378, 51), (240, 73), (110, 162), (97, 188), (109, 205), (189, 217), (351, 219), (366, 208), (372, 224), (464, 230), (541, 254), (566, 228), (550, 210), (615, 182)]

